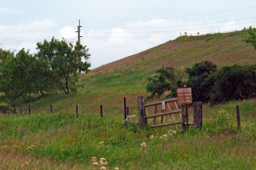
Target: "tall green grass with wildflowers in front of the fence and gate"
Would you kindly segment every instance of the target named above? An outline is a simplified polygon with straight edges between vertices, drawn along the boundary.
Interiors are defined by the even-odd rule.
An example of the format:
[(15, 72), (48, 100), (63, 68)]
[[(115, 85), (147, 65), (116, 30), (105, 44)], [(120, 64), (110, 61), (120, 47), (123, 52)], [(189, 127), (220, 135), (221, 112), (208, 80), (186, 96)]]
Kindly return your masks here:
[[(240, 131), (236, 104), (241, 106)], [(24, 169), (92, 169), (91, 158), (96, 156), (106, 158), (109, 169), (254, 169), (254, 108), (255, 100), (204, 106), (201, 131), (190, 128), (173, 135), (169, 130), (174, 126), (141, 129), (134, 123), (125, 127), (121, 114), (103, 119), (93, 113), (79, 118), (74, 113), (1, 115), (0, 156), (5, 159), (0, 168), (19, 164), (17, 168)], [(166, 139), (159, 138), (165, 134)], [(142, 153), (143, 142), (147, 148)], [(44, 161), (49, 166), (44, 167)]]

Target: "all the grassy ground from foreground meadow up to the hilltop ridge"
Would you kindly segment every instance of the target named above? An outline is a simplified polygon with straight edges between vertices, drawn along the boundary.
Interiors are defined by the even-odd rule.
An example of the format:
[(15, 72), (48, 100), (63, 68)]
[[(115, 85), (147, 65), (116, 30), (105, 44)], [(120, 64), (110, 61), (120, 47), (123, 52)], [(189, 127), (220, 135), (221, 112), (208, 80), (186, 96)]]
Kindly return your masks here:
[[(255, 64), (256, 51), (243, 41), (245, 36), (245, 31), (239, 31), (179, 37), (83, 74), (84, 88), (76, 93), (56, 93), (30, 102), (32, 115), (26, 114), (27, 105), (21, 114), (0, 115), (0, 169), (100, 169), (92, 167), (93, 156), (106, 158), (107, 169), (254, 169), (254, 99), (213, 108), (204, 105), (201, 131), (191, 128), (172, 135), (168, 132), (174, 126), (125, 128), (122, 115), (124, 97), (137, 115), (137, 97), (149, 95), (146, 78), (157, 68), (172, 66), (184, 75), (184, 68), (202, 60), (217, 65)], [(54, 114), (50, 114), (51, 103)], [(79, 118), (74, 114), (76, 104)], [(241, 109), (240, 131), (236, 105)], [(192, 120), (192, 109), (189, 114)], [(159, 138), (165, 134), (166, 140)], [(155, 138), (149, 139), (151, 135)], [(143, 142), (146, 152), (140, 152)]]

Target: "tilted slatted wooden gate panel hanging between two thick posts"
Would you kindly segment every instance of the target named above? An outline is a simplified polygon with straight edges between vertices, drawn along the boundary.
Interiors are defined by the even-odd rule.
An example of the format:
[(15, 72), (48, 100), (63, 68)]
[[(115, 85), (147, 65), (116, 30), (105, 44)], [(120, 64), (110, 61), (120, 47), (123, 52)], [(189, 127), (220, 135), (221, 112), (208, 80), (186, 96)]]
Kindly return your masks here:
[(144, 125), (149, 125), (152, 128), (175, 125), (178, 130), (177, 125), (182, 124), (182, 109), (179, 109), (178, 106), (177, 98), (144, 104), (142, 109), (139, 108), (143, 114), (140, 116), (140, 121), (144, 121)]

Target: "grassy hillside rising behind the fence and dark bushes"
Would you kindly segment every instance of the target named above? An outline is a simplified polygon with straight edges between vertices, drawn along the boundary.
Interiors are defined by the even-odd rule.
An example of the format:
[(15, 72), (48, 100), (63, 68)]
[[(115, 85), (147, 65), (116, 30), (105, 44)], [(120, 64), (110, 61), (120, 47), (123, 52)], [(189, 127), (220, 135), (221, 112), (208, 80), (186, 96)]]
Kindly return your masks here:
[(246, 31), (239, 31), (170, 40), (82, 74), (84, 88), (70, 95), (57, 93), (41, 98), (33, 103), (34, 111), (49, 111), (50, 103), (54, 103), (55, 111), (74, 111), (78, 103), (83, 113), (99, 112), (103, 105), (109, 113), (120, 114), (124, 97), (137, 110), (137, 97), (149, 95), (145, 92), (146, 80), (157, 68), (172, 66), (182, 74), (184, 68), (202, 60), (217, 65), (255, 63), (256, 50), (243, 41), (245, 36)]

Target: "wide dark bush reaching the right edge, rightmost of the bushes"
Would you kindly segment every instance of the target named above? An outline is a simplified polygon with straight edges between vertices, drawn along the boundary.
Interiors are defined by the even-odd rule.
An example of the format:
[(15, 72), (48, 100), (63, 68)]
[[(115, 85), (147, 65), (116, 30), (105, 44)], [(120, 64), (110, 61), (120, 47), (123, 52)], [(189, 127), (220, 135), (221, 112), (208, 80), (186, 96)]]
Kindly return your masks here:
[(256, 65), (232, 65), (217, 70), (210, 103), (256, 97)]

